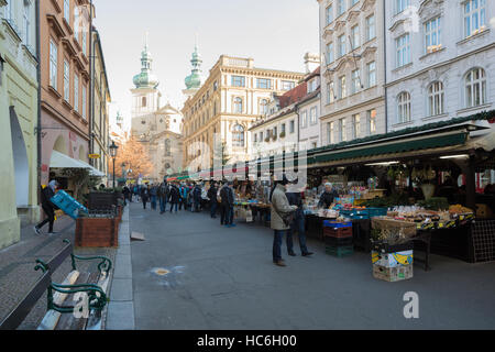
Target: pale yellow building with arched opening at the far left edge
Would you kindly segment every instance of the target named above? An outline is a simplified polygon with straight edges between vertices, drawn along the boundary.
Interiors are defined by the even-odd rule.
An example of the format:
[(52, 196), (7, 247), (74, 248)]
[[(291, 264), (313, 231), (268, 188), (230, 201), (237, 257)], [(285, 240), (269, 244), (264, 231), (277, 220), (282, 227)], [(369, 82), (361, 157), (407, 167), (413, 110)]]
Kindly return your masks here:
[(40, 217), (35, 24), (34, 1), (0, 0), (0, 249)]

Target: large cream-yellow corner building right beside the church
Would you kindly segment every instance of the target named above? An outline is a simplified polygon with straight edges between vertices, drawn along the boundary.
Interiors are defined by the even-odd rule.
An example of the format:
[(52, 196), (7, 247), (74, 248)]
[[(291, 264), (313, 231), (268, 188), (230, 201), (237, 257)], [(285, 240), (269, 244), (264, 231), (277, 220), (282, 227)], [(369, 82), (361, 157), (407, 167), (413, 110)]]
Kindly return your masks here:
[(252, 58), (221, 55), (182, 110), (184, 167), (194, 172), (213, 167), (215, 151), (220, 148), (231, 163), (248, 161), (252, 123), (266, 113), (273, 94), (283, 95), (304, 77), (302, 73), (256, 68)]

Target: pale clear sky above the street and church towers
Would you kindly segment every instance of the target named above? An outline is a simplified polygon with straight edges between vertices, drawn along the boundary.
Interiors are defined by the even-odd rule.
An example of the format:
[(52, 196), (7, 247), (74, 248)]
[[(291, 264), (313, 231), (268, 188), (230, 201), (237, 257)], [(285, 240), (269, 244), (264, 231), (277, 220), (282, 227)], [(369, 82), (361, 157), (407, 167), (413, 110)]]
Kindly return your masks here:
[(184, 79), (198, 37), (202, 73), (220, 55), (254, 58), (254, 66), (304, 72), (304, 55), (319, 53), (317, 0), (94, 0), (112, 98), (130, 125), (132, 78), (141, 72), (148, 32), (162, 106), (182, 108)]

